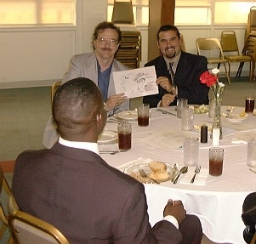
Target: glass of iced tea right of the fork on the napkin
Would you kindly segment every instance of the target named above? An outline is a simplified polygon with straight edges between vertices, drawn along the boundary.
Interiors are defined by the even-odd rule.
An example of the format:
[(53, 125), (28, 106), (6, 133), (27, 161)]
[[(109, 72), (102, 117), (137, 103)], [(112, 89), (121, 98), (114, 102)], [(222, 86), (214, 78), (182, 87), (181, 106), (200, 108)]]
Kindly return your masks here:
[(223, 170), (224, 149), (212, 147), (209, 149), (209, 174), (219, 176)]

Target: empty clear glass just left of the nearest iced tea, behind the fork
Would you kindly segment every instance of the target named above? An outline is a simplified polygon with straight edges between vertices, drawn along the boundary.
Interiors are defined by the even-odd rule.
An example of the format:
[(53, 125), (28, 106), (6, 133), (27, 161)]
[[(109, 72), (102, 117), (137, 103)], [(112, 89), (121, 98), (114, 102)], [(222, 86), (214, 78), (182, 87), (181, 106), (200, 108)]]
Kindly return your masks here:
[(198, 164), (199, 139), (196, 137), (185, 137), (184, 139), (184, 164), (196, 166)]

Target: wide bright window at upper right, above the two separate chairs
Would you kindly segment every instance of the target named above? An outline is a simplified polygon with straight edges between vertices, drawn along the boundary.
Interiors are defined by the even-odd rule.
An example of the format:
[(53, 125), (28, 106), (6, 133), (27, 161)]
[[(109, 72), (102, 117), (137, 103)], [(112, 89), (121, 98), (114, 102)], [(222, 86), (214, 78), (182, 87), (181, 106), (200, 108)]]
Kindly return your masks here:
[(244, 25), (253, 5), (242, 0), (176, 0), (175, 25)]

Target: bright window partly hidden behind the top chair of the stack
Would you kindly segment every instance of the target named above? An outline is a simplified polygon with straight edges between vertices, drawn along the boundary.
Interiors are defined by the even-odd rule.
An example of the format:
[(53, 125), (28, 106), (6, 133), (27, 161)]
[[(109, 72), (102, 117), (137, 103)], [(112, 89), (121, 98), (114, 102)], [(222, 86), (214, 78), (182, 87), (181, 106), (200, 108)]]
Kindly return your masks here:
[[(128, 2), (128, 0), (118, 0)], [(147, 26), (149, 23), (149, 0), (132, 0), (135, 26)], [(107, 20), (111, 21), (114, 0), (108, 0)]]

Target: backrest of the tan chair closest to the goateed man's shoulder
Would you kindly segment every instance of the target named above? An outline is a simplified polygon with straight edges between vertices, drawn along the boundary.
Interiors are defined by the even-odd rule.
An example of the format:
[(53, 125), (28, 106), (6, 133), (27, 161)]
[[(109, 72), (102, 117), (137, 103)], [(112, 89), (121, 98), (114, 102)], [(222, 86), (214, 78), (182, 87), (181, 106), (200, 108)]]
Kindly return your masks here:
[(224, 60), (223, 50), (218, 38), (197, 38), (196, 49), (199, 55), (202, 55), (202, 51), (217, 51), (214, 56), (219, 56), (220, 59)]

